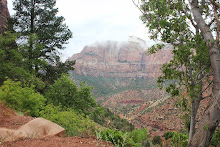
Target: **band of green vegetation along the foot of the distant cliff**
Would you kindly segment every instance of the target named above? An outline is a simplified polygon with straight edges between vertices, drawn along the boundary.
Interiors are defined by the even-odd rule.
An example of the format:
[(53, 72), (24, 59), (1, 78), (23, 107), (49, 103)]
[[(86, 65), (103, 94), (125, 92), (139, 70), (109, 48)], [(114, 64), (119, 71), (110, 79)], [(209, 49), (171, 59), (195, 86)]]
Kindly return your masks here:
[[(90, 75), (79, 75), (75, 71), (69, 72), (70, 78), (79, 83), (85, 81), (93, 86), (92, 92), (95, 97), (106, 97), (129, 89), (153, 89), (157, 88), (156, 79), (144, 78), (118, 78), (118, 77), (93, 77)], [(129, 83), (124, 85), (124, 83)]]

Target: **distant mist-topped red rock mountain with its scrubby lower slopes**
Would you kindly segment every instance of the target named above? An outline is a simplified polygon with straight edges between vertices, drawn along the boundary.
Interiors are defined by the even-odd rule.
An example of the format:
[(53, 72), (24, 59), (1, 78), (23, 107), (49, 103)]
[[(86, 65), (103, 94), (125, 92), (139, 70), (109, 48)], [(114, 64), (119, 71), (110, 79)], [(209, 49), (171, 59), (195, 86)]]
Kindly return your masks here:
[[(166, 45), (156, 54), (147, 55), (146, 43), (131, 36), (127, 42), (107, 41), (86, 46), (68, 60), (76, 60), (70, 77), (93, 86), (98, 103), (136, 127), (164, 131), (183, 126), (182, 121), (180, 125), (168, 123), (179, 115), (170, 117), (172, 112), (178, 114), (174, 100), (157, 87), (160, 68), (170, 59), (172, 46)], [(164, 109), (158, 112), (164, 112), (163, 115), (157, 113), (161, 106)], [(166, 123), (164, 118), (169, 118)]]

